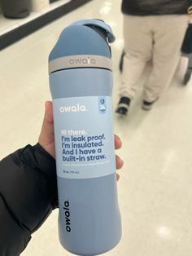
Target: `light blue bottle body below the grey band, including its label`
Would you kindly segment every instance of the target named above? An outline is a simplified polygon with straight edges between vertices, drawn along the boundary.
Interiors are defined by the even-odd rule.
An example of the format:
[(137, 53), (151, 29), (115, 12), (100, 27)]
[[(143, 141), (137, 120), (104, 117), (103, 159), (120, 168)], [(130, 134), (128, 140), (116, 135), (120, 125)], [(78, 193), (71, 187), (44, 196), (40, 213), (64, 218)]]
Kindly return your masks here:
[(120, 241), (111, 89), (111, 71), (104, 69), (77, 68), (50, 75), (59, 241), (73, 254), (102, 254)]

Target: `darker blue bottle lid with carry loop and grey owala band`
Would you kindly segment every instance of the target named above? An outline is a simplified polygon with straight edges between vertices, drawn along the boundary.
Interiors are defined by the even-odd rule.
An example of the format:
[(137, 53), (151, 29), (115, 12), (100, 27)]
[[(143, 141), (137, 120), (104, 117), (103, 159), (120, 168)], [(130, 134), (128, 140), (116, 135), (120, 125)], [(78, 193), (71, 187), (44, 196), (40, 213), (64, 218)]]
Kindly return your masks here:
[(103, 20), (79, 20), (59, 36), (50, 52), (50, 73), (65, 68), (94, 67), (111, 69), (111, 47), (115, 36)]

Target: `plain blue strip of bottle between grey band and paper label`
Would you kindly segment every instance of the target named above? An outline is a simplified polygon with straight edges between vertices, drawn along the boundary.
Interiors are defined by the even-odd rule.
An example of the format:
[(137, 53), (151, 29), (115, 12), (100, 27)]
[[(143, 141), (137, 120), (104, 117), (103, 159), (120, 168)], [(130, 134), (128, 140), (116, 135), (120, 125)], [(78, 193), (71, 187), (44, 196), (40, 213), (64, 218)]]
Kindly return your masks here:
[(65, 98), (111, 96), (112, 73), (101, 68), (61, 70), (50, 75), (50, 92), (53, 99), (63, 98), (63, 95)]

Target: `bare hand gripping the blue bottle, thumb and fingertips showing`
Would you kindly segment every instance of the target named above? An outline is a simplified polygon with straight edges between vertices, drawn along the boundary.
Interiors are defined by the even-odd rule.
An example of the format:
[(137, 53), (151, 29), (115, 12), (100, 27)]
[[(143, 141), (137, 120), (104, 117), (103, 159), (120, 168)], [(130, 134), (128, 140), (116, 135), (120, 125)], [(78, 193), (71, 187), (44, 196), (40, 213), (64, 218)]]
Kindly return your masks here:
[[(45, 104), (45, 115), (41, 126), (41, 133), (39, 135), (39, 143), (41, 147), (46, 150), (52, 157), (55, 158), (55, 137), (54, 137), (54, 119), (53, 119), (53, 108), (52, 102), (46, 101)], [(114, 135), (115, 148), (119, 149), (122, 146), (120, 138)], [(123, 160), (116, 156), (116, 169), (119, 170), (124, 165)], [(120, 174), (116, 175), (117, 180), (120, 179)]]

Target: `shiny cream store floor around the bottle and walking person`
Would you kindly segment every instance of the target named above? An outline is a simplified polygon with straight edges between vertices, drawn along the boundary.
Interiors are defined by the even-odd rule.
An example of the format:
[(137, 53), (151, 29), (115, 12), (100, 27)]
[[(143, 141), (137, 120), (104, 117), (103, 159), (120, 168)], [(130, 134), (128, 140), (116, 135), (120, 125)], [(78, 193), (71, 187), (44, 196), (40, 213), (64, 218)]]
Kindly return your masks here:
[[(37, 142), (44, 102), (50, 99), (48, 55), (62, 29), (82, 18), (103, 19), (116, 34), (111, 46), (115, 108), (123, 48), (120, 0), (94, 0), (0, 52), (1, 158)], [(141, 109), (141, 86), (129, 117), (114, 115), (116, 134), (124, 143), (118, 183), (123, 236), (106, 255), (192, 254), (192, 82), (181, 85), (184, 72), (183, 63), (150, 112)], [(55, 210), (33, 234), (23, 256), (71, 255), (59, 245), (57, 216)]]

